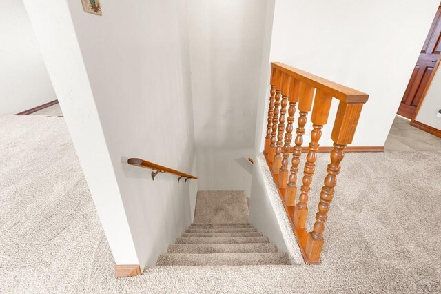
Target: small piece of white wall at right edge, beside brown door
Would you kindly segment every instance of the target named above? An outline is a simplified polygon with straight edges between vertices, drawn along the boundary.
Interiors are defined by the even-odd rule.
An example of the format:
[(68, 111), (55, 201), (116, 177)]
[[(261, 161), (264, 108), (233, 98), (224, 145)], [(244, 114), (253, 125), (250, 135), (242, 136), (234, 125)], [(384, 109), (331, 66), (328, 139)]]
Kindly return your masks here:
[(436, 117), (438, 110), (441, 109), (441, 70), (437, 70), (431, 82), (427, 95), (422, 101), (420, 111), (416, 121), (420, 121), (427, 126), (441, 130), (441, 117)]

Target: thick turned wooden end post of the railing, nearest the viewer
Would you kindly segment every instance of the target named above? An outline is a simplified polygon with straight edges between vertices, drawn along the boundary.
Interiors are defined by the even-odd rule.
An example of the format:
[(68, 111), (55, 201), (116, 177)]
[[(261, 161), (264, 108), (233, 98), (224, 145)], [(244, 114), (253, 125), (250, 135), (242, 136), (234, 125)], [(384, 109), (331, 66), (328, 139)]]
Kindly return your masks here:
[(334, 197), (334, 187), (337, 184), (337, 175), (340, 172), (340, 162), (345, 156), (344, 150), (346, 145), (352, 142), (362, 106), (363, 104), (346, 104), (343, 101), (340, 101), (338, 106), (331, 135), (331, 139), (334, 141), (334, 148), (331, 152), (331, 163), (327, 167), (325, 186), (322, 187), (320, 193), (320, 203), (318, 204), (318, 213), (316, 213), (314, 231), (308, 235), (305, 250), (309, 263), (318, 263), (320, 260), (325, 222), (331, 201)]

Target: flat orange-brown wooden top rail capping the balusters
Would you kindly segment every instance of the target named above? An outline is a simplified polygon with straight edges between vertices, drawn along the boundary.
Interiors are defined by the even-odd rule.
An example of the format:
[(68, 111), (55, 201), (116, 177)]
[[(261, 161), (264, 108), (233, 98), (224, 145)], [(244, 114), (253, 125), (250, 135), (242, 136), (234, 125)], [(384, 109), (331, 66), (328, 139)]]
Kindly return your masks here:
[(309, 72), (299, 70), (298, 68), (287, 66), (284, 63), (271, 62), (271, 67), (280, 70), (281, 72), (285, 72), (286, 74), (291, 75), (291, 77), (294, 77), (294, 79), (303, 81), (314, 88), (328, 92), (333, 97), (348, 104), (364, 104), (369, 98), (369, 95), (364, 92), (337, 84), (334, 81), (329, 81)]

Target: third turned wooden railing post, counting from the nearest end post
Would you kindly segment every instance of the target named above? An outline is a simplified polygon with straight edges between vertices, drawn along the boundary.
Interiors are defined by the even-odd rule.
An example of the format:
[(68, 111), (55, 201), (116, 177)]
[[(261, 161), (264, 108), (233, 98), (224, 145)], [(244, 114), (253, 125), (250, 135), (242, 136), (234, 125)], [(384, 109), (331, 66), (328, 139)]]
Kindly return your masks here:
[(306, 83), (300, 81), (298, 89), (294, 92), (298, 99), (298, 110), (300, 117), (298, 117), (296, 130), (296, 145), (294, 146), (293, 156), (291, 159), (291, 169), (289, 174), (289, 182), (287, 185), (287, 191), (285, 193), (285, 201), (287, 206), (296, 205), (297, 195), (297, 173), (298, 165), (300, 164), (300, 156), (302, 155), (303, 135), (305, 134), (305, 124), (307, 121), (306, 116), (312, 108), (312, 99), (314, 97), (314, 88)]

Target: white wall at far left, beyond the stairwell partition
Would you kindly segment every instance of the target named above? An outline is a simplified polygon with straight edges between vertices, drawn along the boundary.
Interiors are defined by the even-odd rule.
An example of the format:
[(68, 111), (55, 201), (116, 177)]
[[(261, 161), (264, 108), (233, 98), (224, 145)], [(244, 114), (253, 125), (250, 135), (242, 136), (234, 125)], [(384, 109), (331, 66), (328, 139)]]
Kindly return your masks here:
[(23, 1), (0, 0), (0, 115), (57, 99)]

